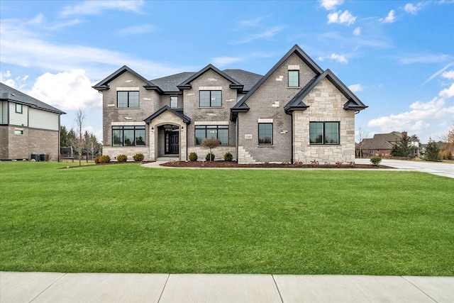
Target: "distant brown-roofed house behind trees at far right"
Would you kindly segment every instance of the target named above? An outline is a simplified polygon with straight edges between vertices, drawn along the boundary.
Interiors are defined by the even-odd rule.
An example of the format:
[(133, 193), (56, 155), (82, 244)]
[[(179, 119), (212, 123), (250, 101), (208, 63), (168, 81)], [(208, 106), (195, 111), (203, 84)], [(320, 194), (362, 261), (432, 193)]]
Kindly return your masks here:
[[(360, 143), (355, 144), (356, 156), (357, 157), (389, 157), (391, 155), (392, 146), (395, 142), (399, 141), (402, 136), (407, 136), (406, 131), (399, 133), (399, 131), (393, 131), (392, 133), (376, 133), (374, 138), (362, 139)], [(414, 156), (419, 157), (420, 146), (419, 141), (411, 138), (411, 142), (414, 145)]]

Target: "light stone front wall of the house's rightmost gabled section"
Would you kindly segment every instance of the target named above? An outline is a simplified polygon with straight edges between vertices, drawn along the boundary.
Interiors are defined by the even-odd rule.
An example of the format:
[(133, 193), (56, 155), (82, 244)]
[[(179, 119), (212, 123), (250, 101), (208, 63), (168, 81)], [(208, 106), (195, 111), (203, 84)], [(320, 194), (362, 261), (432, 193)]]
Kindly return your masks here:
[[(294, 162), (355, 162), (355, 111), (346, 111), (348, 100), (328, 80), (323, 79), (304, 99), (306, 111), (294, 111)], [(309, 122), (340, 122), (340, 145), (311, 145)]]

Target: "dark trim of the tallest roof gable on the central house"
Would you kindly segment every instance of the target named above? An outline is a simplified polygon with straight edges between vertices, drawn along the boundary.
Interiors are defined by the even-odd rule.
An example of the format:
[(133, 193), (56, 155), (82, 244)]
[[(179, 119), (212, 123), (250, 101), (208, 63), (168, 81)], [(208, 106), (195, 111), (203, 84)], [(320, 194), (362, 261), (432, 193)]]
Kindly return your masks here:
[[(281, 60), (279, 60), (275, 66), (273, 66), (271, 68), (271, 70), (269, 70), (267, 72), (267, 74), (265, 76), (262, 77), (262, 79), (260, 79), (259, 82), (257, 82), (254, 87), (252, 89), (250, 89), (250, 91), (248, 92), (248, 94), (245, 95), (245, 97), (243, 97), (243, 99), (241, 99), (240, 101), (238, 101), (237, 104), (235, 104), (235, 106), (233, 106), (232, 108), (232, 111), (236, 111), (236, 109), (240, 109), (240, 108), (244, 108), (245, 107), (245, 102), (249, 99), (249, 97), (263, 84), (265, 83), (265, 81), (271, 77), (271, 75), (277, 70), (277, 68), (279, 68), (279, 66), (281, 66), (285, 60), (287, 60), (290, 55), (292, 55), (293, 53), (295, 53), (298, 57), (301, 58), (301, 60), (303, 60), (304, 63), (306, 63), (306, 65), (316, 74), (316, 75), (321, 75), (321, 73), (323, 72), (323, 70), (321, 69), (321, 67), (319, 67), (319, 65), (316, 64), (316, 62), (314, 60), (311, 59), (311, 57), (309, 57), (309, 55), (307, 55), (306, 53), (304, 53), (304, 50), (301, 50), (301, 48), (295, 44), (293, 46), (293, 48), (291, 48), (287, 54), (284, 55), (284, 57), (281, 58)], [(247, 106), (247, 105), (246, 105)]]

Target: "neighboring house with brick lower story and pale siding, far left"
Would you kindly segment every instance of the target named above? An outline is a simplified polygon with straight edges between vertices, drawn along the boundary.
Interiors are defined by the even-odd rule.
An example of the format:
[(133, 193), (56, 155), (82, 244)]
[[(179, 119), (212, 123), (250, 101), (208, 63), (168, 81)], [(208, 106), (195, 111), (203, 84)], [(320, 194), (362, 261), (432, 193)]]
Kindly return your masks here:
[(0, 160), (31, 159), (32, 154), (58, 160), (62, 114), (65, 112), (0, 83)]

